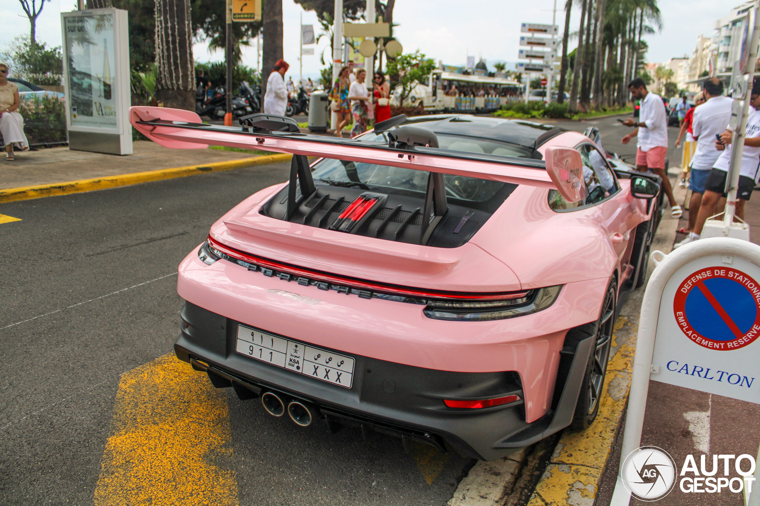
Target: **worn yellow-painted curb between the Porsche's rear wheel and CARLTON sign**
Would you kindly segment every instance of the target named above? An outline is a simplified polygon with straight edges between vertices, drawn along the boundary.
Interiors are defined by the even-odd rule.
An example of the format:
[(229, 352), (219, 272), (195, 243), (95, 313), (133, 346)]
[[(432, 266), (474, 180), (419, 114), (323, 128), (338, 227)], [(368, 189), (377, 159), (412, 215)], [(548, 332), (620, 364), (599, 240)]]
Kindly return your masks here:
[[(615, 330), (620, 330), (627, 321), (628, 318), (619, 317)], [(635, 334), (636, 330), (633, 328), (632, 332)], [(613, 343), (614, 337), (613, 334)], [(608, 395), (602, 399), (597, 419), (583, 432), (562, 435), (528, 506), (594, 503), (628, 398), (634, 355), (635, 346), (625, 343), (607, 363), (604, 388)]]

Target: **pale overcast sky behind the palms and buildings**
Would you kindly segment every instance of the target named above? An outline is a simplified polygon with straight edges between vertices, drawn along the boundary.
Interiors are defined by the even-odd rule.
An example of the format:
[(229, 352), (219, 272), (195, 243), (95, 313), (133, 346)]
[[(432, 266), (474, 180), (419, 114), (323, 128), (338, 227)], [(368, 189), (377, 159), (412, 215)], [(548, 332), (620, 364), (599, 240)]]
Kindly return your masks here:
[[(37, 35), (49, 46), (61, 44), (60, 12), (74, 8), (74, 0), (50, 0), (37, 20)], [(660, 0), (663, 26), (659, 33), (645, 36), (650, 50), (648, 62), (665, 62), (670, 58), (691, 56), (697, 36), (712, 36), (714, 21), (729, 14), (736, 4), (721, 4), (711, 0)], [(492, 68), (495, 62), (517, 62), (520, 24), (552, 21), (554, 0), (479, 0), (473, 9), (463, 11), (461, 0), (397, 0), (394, 8), (394, 35), (404, 46), (404, 52), (420, 49), (428, 57), (441, 60), (446, 65), (464, 65), (467, 55), (474, 55), (476, 61), (483, 58)], [(564, 5), (562, 0), (556, 3)], [(290, 63), (288, 75), (295, 81), (299, 75), (299, 17), (303, 24), (313, 24), (319, 33), (316, 14), (303, 11), (293, 0), (283, 0), (283, 52)], [(0, 19), (4, 20), (0, 34), (0, 50), (15, 36), (29, 33), (29, 21), (21, 10), (18, 0), (0, 2)], [(571, 14), (571, 30), (578, 30), (580, 12)], [(562, 33), (565, 22), (564, 11), (557, 11), (556, 24)], [(328, 48), (329, 40), (324, 37), (315, 47), (315, 55), (303, 57), (303, 76), (318, 77), (319, 54)], [(577, 43), (571, 41), (572, 50)], [(250, 49), (243, 49), (243, 63), (256, 65), (255, 42)], [(196, 43), (193, 55), (198, 62), (213, 62), (223, 59), (222, 52), (210, 53), (207, 44)], [(330, 60), (329, 49), (325, 52)]]

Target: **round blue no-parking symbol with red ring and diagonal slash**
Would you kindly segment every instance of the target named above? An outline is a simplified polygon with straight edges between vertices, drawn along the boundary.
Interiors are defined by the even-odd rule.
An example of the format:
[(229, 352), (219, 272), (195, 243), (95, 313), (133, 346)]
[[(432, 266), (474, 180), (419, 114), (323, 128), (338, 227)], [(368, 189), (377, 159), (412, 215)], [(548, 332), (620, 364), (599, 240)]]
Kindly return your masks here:
[(699, 346), (743, 348), (760, 337), (760, 285), (741, 270), (706, 267), (678, 286), (673, 312), (682, 332)]

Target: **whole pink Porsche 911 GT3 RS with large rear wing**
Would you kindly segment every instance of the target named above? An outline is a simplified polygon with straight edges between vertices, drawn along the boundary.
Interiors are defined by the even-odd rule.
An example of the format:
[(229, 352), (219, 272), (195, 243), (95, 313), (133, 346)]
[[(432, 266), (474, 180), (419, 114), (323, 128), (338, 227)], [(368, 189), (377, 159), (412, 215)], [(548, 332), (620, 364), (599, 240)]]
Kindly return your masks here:
[[(644, 283), (657, 176), (591, 138), (470, 115), (354, 139), (132, 107), (166, 147), (293, 153), (179, 265), (176, 355), (298, 425), (492, 460), (597, 416), (616, 308)], [(316, 157), (309, 165), (306, 157)]]

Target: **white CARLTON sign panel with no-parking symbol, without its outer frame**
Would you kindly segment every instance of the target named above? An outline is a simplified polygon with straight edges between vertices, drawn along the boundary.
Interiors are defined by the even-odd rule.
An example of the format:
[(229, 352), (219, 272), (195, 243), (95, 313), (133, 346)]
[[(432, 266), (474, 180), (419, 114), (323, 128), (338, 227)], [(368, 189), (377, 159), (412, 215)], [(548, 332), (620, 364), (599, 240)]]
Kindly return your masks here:
[(660, 300), (650, 379), (760, 403), (758, 279), (760, 267), (738, 255), (679, 267)]

